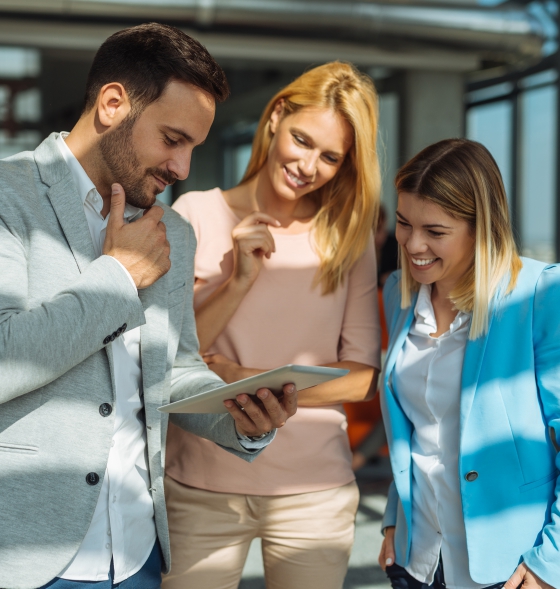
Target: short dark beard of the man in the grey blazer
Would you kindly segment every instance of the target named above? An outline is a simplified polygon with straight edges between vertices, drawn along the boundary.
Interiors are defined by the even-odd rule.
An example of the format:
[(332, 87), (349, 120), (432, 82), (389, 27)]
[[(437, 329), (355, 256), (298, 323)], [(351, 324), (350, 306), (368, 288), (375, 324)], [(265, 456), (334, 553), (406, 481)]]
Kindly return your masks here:
[(136, 119), (137, 116), (131, 113), (113, 131), (103, 133), (99, 150), (113, 182), (118, 182), (123, 187), (126, 202), (139, 209), (148, 209), (162, 192), (153, 186), (153, 176), (168, 184), (173, 184), (176, 178), (167, 170), (157, 167), (142, 170), (132, 147), (132, 130)]

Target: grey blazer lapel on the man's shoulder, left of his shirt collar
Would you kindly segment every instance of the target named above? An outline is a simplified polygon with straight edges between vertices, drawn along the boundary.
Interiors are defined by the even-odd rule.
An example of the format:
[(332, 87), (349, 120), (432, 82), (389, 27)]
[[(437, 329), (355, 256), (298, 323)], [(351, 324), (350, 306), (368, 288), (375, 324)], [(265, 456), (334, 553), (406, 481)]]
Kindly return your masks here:
[(49, 135), (35, 150), (34, 157), (41, 180), (49, 187), (47, 196), (80, 272), (95, 260), (84, 205), (72, 174), (56, 145), (58, 133)]

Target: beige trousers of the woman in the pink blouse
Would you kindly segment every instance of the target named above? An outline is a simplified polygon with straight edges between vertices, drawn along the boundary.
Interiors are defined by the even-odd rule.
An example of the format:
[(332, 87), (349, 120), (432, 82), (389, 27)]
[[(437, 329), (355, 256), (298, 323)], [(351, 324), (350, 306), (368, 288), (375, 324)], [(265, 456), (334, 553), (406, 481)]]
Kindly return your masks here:
[(214, 493), (165, 479), (171, 572), (163, 589), (236, 589), (262, 538), (267, 589), (341, 589), (354, 542), (355, 482), (313, 493)]

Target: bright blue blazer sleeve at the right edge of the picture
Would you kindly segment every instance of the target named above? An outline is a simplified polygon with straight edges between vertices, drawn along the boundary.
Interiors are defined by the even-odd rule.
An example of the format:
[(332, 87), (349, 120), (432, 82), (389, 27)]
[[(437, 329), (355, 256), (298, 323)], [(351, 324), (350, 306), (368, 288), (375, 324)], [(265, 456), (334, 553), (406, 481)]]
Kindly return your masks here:
[[(560, 266), (548, 266), (537, 282), (533, 310), (535, 372), (544, 419), (560, 440)], [(556, 456), (560, 470), (560, 454)], [(558, 586), (560, 579), (560, 478), (550, 521), (542, 542), (523, 555), (523, 561), (543, 581)]]

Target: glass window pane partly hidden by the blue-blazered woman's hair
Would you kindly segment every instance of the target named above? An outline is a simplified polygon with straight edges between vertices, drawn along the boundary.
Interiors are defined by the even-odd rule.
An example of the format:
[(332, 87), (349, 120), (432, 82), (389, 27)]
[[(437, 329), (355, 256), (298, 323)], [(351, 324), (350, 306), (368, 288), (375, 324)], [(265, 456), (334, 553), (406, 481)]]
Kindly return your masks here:
[(509, 100), (473, 106), (467, 111), (467, 137), (482, 143), (492, 154), (511, 207), (513, 106)]

